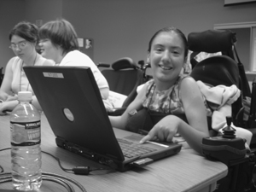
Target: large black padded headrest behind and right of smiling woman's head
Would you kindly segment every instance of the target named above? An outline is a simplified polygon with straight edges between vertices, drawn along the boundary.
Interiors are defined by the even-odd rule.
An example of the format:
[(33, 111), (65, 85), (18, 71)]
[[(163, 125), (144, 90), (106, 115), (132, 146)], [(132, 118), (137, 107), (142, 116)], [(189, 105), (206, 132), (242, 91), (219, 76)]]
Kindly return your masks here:
[(216, 53), (229, 51), (236, 42), (236, 32), (230, 30), (207, 30), (188, 35), (189, 50)]

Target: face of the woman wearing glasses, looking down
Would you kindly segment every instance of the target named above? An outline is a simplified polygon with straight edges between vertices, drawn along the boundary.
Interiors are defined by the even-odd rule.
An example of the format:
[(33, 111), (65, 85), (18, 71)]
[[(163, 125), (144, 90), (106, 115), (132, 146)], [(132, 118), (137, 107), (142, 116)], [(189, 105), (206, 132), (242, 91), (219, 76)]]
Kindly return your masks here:
[(10, 48), (13, 49), (15, 55), (19, 56), (21, 60), (30, 57), (35, 51), (35, 44), (26, 41), (25, 38), (13, 35), (11, 38)]

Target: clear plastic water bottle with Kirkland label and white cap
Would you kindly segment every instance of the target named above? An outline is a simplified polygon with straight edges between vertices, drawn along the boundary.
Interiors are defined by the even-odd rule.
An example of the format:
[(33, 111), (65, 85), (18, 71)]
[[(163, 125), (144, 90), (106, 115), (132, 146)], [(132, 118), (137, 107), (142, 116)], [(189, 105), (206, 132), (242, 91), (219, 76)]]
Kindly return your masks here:
[(13, 187), (37, 190), (42, 184), (41, 114), (31, 104), (30, 91), (20, 91), (18, 100), (10, 114)]

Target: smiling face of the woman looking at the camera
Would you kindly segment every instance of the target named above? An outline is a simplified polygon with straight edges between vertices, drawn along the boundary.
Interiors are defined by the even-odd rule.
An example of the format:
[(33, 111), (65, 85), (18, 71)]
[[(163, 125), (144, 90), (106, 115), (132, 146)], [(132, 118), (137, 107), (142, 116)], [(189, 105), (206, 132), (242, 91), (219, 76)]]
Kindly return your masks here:
[(176, 32), (160, 32), (148, 53), (156, 82), (174, 84), (184, 65), (184, 44)]

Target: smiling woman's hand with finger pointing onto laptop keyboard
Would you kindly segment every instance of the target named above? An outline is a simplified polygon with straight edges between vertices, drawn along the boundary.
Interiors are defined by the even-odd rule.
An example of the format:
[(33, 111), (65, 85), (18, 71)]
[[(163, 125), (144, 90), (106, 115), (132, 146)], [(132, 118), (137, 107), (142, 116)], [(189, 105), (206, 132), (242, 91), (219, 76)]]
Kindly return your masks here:
[(140, 143), (145, 143), (148, 140), (172, 142), (172, 137), (177, 133), (177, 128), (181, 120), (174, 115), (166, 116), (154, 125)]

